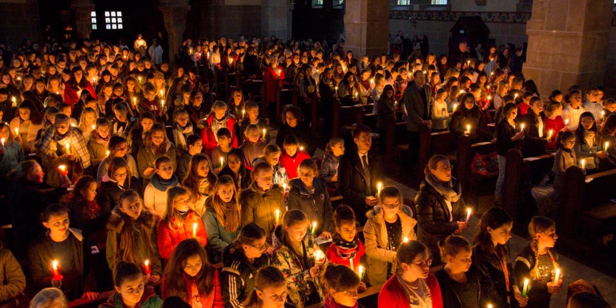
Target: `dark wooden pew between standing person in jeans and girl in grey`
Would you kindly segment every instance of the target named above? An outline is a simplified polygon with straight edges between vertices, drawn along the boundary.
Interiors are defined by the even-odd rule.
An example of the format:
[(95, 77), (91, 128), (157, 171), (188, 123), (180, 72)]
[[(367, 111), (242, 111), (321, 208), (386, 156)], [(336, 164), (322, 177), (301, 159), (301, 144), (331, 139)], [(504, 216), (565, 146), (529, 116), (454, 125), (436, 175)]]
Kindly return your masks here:
[(521, 198), (521, 185), (526, 180), (539, 182), (554, 165), (554, 153), (523, 158), (520, 150), (511, 149), (506, 159), (503, 208), (513, 217), (515, 225), (524, 228), (530, 218), (529, 213), (536, 212), (529, 209)]

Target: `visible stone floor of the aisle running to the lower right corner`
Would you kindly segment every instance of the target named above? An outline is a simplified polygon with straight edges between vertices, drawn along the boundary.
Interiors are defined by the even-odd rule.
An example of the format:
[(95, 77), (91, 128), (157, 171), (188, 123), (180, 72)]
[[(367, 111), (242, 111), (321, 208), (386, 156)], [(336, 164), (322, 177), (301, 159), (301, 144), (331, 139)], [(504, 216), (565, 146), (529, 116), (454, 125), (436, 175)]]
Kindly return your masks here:
[[(385, 185), (395, 185), (402, 190), (402, 195), (404, 198), (415, 198), (415, 194), (417, 191), (413, 188), (407, 187), (406, 185), (400, 184), (399, 182), (395, 182), (392, 179), (386, 179)], [(472, 241), (472, 237), (477, 228), (477, 224), (479, 223), (479, 217), (471, 217), (471, 227), (469, 227), (466, 232), (462, 235)], [(511, 247), (511, 255), (513, 258), (517, 255), (518, 251), (524, 249), (526, 245), (529, 245), (530, 241), (520, 237), (519, 235), (513, 234), (511, 240), (509, 240), (509, 245)], [(563, 285), (569, 285), (569, 283), (574, 282), (578, 279), (586, 280), (590, 283), (594, 283), (594, 285), (599, 288), (602, 295), (613, 307), (616, 307), (616, 279), (613, 277), (609, 277), (606, 274), (602, 274), (601, 272), (591, 269), (586, 265), (580, 264), (579, 262), (573, 261), (572, 259), (563, 256), (562, 254), (559, 257), (559, 264), (562, 266), (562, 271), (564, 274), (564, 282)], [(552, 296), (552, 301), (550, 307), (562, 308), (566, 306), (567, 301), (567, 290), (564, 290), (557, 294), (556, 296)]]

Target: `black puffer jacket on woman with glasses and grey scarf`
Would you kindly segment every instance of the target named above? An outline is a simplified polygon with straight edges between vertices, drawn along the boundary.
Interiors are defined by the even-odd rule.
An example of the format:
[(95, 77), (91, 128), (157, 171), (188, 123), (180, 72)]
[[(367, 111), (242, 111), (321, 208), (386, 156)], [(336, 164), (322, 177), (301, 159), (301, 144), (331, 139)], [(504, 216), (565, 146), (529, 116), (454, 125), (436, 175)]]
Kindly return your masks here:
[[(458, 185), (458, 180), (452, 177), (453, 187)], [(415, 209), (417, 213), (417, 240), (430, 248), (432, 258), (440, 260), (438, 243), (458, 230), (458, 221), (466, 219), (464, 200), (460, 197), (457, 202), (452, 202), (452, 213), (449, 213), (445, 199), (432, 185), (423, 180), (419, 184), (419, 191), (415, 195)], [(452, 217), (450, 221), (450, 217)]]

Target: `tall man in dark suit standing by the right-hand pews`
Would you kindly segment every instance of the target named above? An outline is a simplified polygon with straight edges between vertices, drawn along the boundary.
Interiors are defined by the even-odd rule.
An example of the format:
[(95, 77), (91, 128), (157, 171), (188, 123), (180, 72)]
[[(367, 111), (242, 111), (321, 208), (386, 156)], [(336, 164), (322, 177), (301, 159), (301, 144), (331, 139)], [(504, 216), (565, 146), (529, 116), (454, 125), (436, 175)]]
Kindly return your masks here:
[(418, 159), (419, 126), (432, 125), (432, 107), (430, 86), (421, 70), (413, 73), (413, 83), (408, 84), (402, 99), (407, 111), (408, 154), (411, 168), (414, 168)]

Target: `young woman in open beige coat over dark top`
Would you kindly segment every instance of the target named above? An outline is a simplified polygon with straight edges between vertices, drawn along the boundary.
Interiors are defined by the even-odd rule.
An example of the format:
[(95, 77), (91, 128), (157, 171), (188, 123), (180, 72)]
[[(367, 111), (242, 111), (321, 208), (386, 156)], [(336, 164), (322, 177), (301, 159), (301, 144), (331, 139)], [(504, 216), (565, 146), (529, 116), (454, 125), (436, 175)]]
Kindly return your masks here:
[(403, 240), (415, 240), (413, 210), (402, 203), (402, 193), (396, 187), (381, 190), (378, 205), (366, 214), (363, 226), (366, 255), (368, 256), (368, 282), (384, 283), (394, 276), (396, 249)]

